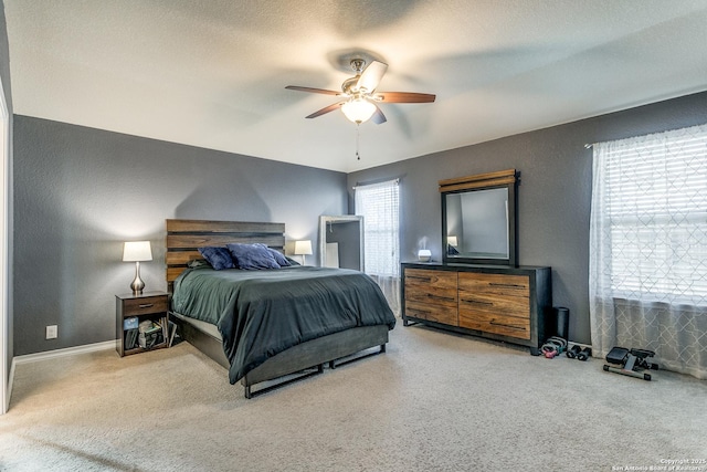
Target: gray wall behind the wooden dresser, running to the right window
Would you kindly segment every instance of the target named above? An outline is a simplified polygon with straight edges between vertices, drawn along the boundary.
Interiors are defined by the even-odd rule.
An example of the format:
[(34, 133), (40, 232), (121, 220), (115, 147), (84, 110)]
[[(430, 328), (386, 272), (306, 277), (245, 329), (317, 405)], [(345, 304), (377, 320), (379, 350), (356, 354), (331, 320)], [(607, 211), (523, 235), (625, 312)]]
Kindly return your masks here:
[[(414, 260), (426, 239), (433, 259), (441, 261), (437, 181), (517, 169), (519, 264), (552, 268), (553, 306), (570, 310), (570, 339), (590, 343), (592, 150), (584, 145), (704, 123), (707, 123), (707, 93), (699, 93), (352, 172), (347, 188), (400, 178), (401, 260)], [(354, 196), (349, 193), (351, 212), (352, 202)]]

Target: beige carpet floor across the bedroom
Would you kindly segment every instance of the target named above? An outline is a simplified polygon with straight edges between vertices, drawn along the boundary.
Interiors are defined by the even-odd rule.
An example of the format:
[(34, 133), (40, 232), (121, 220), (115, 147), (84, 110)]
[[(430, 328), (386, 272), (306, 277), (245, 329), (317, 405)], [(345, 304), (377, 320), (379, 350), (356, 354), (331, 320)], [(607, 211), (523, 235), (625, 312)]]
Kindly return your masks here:
[(21, 364), (0, 470), (707, 471), (705, 380), (401, 323), (390, 337), (252, 400), (187, 343)]

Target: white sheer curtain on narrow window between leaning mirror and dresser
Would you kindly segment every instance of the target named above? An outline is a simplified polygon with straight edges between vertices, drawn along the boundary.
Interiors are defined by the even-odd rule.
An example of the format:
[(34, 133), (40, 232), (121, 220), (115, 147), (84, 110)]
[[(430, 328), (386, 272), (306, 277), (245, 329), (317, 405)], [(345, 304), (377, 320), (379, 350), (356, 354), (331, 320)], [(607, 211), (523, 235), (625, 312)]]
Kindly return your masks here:
[(400, 217), (398, 180), (356, 187), (356, 214), (363, 217), (363, 272), (380, 285), (400, 314)]

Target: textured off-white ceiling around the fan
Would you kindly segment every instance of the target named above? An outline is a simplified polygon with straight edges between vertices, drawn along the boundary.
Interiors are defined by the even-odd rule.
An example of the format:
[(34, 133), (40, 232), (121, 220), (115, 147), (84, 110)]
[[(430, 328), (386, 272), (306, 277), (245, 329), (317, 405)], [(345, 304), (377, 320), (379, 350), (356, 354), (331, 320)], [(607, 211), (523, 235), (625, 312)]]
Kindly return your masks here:
[[(352, 171), (707, 90), (707, 0), (4, 0), (14, 113)], [(388, 123), (339, 112), (360, 51)]]

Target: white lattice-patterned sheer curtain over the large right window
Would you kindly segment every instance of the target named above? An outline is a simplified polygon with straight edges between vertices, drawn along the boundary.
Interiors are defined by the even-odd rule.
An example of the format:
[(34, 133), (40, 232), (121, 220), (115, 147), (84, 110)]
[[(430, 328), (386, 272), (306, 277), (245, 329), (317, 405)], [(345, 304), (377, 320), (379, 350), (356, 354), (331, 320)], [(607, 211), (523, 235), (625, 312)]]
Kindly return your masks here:
[(594, 354), (707, 378), (707, 125), (593, 146)]

